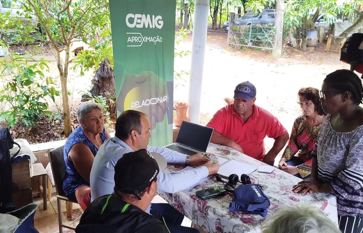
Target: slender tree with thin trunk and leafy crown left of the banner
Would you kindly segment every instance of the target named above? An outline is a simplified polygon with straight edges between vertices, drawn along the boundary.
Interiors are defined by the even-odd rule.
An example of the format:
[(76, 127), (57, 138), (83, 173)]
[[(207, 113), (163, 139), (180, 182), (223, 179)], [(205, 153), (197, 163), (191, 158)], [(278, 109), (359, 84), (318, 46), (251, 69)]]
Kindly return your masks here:
[[(70, 45), (77, 40), (101, 42), (104, 38), (110, 37), (109, 3), (107, 0), (24, 0), (23, 10), (24, 12), (18, 12), (18, 14), (29, 20), (36, 18), (45, 36), (34, 34), (34, 26), (16, 19), (7, 20), (1, 17), (0, 28), (11, 28), (12, 33), (21, 34), (24, 38), (23, 42), (32, 40), (49, 42), (59, 71), (64, 110), (64, 134), (67, 137), (72, 132), (67, 90)], [(9, 13), (5, 16), (8, 19), (11, 18)], [(63, 58), (61, 50), (65, 53)]]

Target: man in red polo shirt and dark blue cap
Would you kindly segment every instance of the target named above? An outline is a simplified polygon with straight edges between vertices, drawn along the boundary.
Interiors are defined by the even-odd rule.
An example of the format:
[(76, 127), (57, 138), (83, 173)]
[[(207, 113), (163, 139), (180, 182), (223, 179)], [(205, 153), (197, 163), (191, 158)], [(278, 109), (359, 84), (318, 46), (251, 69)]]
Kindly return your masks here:
[[(289, 134), (275, 116), (256, 106), (255, 101), (256, 87), (250, 82), (238, 84), (234, 90), (234, 103), (218, 110), (207, 124), (214, 128), (211, 142), (273, 165), (278, 152), (289, 140)], [(267, 154), (266, 135), (275, 139)]]

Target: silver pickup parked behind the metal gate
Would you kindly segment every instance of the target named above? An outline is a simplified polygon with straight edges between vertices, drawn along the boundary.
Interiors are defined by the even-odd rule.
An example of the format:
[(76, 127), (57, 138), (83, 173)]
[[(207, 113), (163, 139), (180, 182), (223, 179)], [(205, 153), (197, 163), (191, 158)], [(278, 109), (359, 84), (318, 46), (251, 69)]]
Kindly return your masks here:
[[(253, 13), (249, 11), (245, 13), (242, 17), (235, 20), (236, 25), (249, 25), (249, 24), (272, 24), (275, 23), (275, 12), (276, 9), (263, 9), (262, 13)], [(224, 21), (223, 29), (228, 30), (229, 20)]]

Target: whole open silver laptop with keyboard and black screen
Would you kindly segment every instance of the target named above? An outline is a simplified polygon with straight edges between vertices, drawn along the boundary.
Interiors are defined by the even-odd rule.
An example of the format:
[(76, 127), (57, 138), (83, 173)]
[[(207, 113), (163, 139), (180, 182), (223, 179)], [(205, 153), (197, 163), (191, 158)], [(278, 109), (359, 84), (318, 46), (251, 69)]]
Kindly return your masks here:
[(165, 146), (185, 155), (207, 151), (213, 128), (183, 120), (175, 143)]

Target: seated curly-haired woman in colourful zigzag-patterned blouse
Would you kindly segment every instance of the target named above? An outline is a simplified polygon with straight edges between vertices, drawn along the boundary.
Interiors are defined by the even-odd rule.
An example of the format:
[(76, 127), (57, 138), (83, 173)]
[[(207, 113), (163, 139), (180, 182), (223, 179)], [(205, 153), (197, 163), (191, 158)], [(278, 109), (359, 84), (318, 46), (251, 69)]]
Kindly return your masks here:
[(303, 115), (295, 119), (289, 143), (278, 168), (299, 178), (307, 178), (311, 173), (311, 152), (314, 150), (326, 113), (321, 107), (318, 89), (301, 88), (298, 97)]

